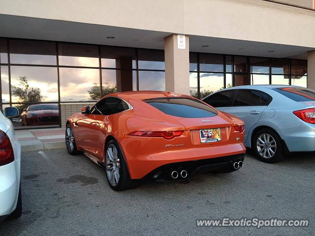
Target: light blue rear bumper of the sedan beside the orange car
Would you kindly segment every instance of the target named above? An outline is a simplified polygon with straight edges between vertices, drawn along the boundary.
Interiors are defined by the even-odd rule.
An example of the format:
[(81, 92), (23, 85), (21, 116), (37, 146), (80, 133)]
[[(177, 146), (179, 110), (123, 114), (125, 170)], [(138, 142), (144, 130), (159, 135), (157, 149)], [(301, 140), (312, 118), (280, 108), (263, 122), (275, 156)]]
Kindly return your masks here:
[(315, 124), (278, 131), (289, 151), (315, 151)]

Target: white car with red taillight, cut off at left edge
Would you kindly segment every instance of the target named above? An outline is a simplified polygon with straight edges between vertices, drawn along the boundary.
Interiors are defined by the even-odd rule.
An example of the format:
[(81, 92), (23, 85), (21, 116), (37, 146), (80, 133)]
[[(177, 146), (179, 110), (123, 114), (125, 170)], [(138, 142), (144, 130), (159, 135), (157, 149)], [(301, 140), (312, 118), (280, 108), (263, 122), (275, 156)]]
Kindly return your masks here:
[(20, 185), (21, 145), (7, 117), (19, 114), (15, 107), (0, 112), (0, 221), (16, 219), (22, 214)]

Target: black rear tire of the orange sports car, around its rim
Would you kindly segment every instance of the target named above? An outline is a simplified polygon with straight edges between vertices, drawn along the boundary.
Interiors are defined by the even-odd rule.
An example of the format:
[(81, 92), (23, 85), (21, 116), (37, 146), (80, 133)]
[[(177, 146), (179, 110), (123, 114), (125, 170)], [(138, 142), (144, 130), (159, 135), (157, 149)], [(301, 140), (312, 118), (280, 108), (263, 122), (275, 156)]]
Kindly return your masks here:
[[(108, 149), (111, 149), (113, 151), (113, 146), (117, 150), (117, 156), (119, 158), (119, 161), (118, 162), (112, 161), (113, 164), (108, 164), (107, 165), (108, 162), (106, 160), (111, 161), (111, 160), (108, 159), (109, 157), (108, 157), (108, 153), (107, 152), (109, 151)], [(116, 163), (116, 164), (114, 164), (114, 163)], [(119, 168), (117, 168), (117, 165), (119, 165)], [(112, 166), (113, 168), (110, 168), (110, 166)], [(113, 170), (114, 166), (116, 166), (115, 168), (118, 169), (119, 180), (118, 180), (118, 182), (116, 180), (114, 180), (116, 183), (113, 184), (110, 181), (109, 176), (112, 174), (112, 172), (115, 172), (115, 170)], [(136, 184), (137, 184), (136, 180), (130, 179), (130, 176), (129, 176), (129, 173), (128, 173), (128, 169), (127, 169), (127, 166), (126, 166), (125, 157), (124, 157), (124, 155), (122, 153), (122, 150), (119, 147), (119, 145), (118, 145), (116, 140), (111, 140), (106, 145), (104, 168), (105, 168), (105, 174), (106, 174), (106, 178), (107, 178), (108, 184), (113, 190), (115, 190), (115, 191), (122, 191), (122, 190), (134, 188), (136, 186)], [(114, 175), (113, 175), (113, 177), (116, 178)]]

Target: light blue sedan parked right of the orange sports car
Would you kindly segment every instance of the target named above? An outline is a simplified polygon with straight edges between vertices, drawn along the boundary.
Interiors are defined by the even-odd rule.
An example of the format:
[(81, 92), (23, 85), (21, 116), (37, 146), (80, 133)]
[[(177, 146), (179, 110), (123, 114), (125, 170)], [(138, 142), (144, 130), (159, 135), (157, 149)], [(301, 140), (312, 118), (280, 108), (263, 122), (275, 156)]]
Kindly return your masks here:
[(315, 151), (315, 90), (287, 85), (248, 85), (202, 99), (245, 122), (245, 146), (275, 163), (284, 151)]

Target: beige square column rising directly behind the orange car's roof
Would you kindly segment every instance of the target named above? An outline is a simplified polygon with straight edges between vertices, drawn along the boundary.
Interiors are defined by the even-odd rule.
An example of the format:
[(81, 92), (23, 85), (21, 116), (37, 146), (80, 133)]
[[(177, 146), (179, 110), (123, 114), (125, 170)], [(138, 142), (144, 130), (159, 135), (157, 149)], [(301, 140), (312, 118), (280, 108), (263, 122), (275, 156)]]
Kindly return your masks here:
[(189, 36), (186, 48), (179, 49), (177, 34), (164, 38), (165, 90), (189, 95)]

